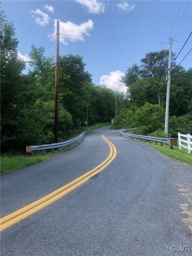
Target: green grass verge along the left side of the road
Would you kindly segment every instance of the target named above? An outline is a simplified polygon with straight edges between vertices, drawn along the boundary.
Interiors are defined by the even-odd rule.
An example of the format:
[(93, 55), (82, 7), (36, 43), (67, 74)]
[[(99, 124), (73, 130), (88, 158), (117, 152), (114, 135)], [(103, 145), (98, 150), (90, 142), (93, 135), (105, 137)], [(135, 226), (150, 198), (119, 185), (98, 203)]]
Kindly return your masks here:
[[(100, 128), (102, 126), (108, 125), (110, 123), (98, 123), (91, 125), (89, 128), (89, 132)], [(85, 129), (86, 130), (86, 129)], [(80, 133), (78, 133), (80, 134)], [(73, 137), (76, 137), (78, 134), (75, 134)], [(69, 150), (73, 147), (75, 147), (78, 143), (74, 144), (71, 147), (68, 147), (67, 149), (60, 150), (60, 151), (54, 151), (54, 153), (48, 152), (45, 155), (42, 155), (41, 152), (35, 152), (34, 157), (31, 157), (28, 154), (2, 154), (1, 155), (1, 161), (0, 161), (0, 173), (1, 175), (7, 174), (9, 172), (21, 169), (23, 167), (36, 164), (38, 162), (41, 162), (47, 158), (50, 158), (52, 156), (55, 156), (61, 152), (64, 152), (66, 150)]]

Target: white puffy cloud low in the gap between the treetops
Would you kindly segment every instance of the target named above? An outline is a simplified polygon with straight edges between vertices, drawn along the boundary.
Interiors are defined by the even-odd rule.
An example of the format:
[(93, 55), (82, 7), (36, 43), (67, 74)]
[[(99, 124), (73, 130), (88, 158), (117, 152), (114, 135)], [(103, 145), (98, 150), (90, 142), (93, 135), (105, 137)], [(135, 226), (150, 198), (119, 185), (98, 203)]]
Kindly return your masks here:
[(120, 70), (112, 71), (110, 75), (101, 76), (100, 85), (106, 85), (108, 88), (126, 93), (127, 87), (120, 81), (123, 75), (125, 73)]

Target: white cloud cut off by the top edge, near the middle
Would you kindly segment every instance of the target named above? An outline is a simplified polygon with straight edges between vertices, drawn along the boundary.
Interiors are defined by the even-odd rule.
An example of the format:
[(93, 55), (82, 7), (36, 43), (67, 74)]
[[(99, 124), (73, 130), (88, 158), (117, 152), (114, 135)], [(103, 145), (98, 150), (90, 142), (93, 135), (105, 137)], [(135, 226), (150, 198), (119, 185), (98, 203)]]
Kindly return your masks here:
[(89, 13), (99, 14), (105, 11), (105, 5), (97, 0), (75, 0), (85, 6)]

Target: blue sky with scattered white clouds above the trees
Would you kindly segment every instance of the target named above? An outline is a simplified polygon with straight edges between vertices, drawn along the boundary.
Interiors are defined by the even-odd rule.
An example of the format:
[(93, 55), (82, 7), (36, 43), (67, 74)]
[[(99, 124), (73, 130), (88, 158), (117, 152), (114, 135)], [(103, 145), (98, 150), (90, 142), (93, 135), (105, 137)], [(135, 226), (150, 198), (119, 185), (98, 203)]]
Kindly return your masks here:
[[(122, 92), (126, 87), (120, 80), (127, 68), (139, 64), (147, 52), (168, 49), (169, 37), (173, 37), (173, 52), (178, 53), (192, 31), (192, 1), (188, 0), (7, 0), (1, 6), (8, 21), (14, 22), (19, 57), (29, 61), (32, 44), (45, 47), (45, 56), (55, 56), (59, 20), (60, 34), (75, 35), (60, 35), (59, 54), (81, 55), (94, 83)], [(192, 36), (177, 63), (192, 48), (191, 42)], [(181, 65), (187, 70), (191, 64), (190, 53)], [(27, 63), (24, 72), (29, 68)]]

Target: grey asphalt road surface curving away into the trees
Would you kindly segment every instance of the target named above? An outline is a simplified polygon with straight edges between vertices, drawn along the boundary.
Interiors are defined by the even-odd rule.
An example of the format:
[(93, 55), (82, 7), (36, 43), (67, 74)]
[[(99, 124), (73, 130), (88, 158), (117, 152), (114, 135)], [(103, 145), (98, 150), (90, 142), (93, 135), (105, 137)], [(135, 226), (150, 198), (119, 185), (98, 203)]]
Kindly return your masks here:
[(73, 149), (1, 177), (4, 217), (113, 153), (111, 162), (82, 185), (5, 228), (1, 256), (169, 256), (176, 254), (171, 246), (185, 245), (192, 251), (192, 167), (109, 128), (93, 130)]

